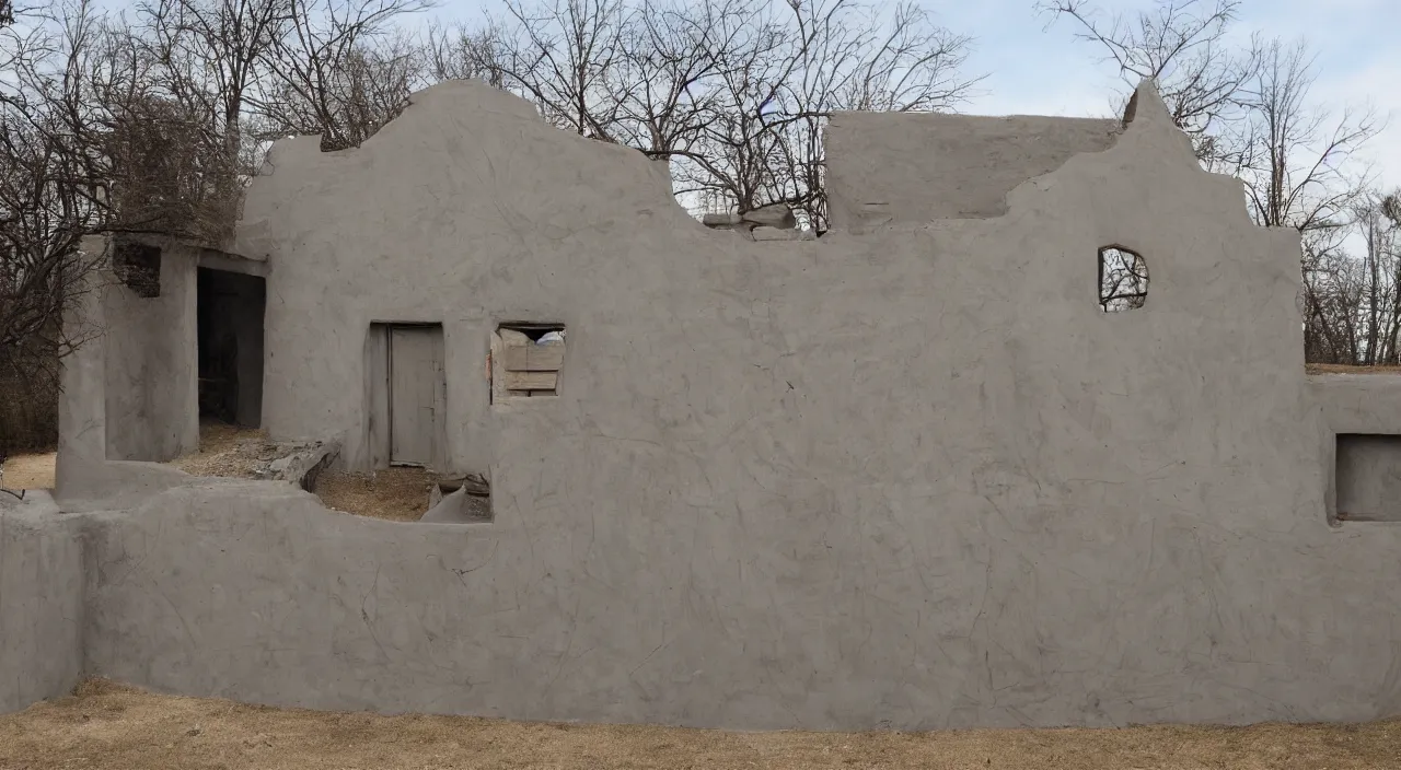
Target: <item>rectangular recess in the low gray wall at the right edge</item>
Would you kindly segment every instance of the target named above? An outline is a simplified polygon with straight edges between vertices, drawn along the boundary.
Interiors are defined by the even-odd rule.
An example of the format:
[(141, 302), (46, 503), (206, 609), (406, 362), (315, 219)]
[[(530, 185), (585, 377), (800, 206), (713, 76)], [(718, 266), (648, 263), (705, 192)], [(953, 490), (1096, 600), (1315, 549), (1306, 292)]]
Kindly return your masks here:
[(1401, 521), (1401, 435), (1338, 434), (1337, 514), (1346, 521)]

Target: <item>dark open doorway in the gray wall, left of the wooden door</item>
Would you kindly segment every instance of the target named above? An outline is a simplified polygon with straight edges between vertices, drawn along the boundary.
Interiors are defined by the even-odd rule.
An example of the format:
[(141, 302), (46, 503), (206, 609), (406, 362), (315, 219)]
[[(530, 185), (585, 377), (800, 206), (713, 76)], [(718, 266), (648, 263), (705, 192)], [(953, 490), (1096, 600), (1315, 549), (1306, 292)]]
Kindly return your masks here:
[(200, 267), (198, 301), (199, 417), (261, 427), (266, 281)]

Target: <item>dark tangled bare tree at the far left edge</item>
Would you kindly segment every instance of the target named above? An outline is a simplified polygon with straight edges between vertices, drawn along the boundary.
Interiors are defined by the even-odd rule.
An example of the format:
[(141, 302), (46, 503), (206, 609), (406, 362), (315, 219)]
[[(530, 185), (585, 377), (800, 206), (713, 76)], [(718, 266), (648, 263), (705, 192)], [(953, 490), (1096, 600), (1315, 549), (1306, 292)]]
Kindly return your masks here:
[(108, 217), (109, 165), (92, 108), (101, 31), (84, 0), (0, 29), (0, 377), (56, 392), (57, 361), (84, 342), (62, 323), (94, 265), (78, 241)]

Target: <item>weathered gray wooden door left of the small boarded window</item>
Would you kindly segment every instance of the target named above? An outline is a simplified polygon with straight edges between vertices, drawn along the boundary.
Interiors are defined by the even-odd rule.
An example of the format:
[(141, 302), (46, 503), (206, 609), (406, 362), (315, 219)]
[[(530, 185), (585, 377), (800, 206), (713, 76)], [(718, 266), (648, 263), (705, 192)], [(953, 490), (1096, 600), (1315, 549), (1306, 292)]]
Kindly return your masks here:
[(441, 326), (389, 328), (389, 463), (432, 466), (443, 431)]

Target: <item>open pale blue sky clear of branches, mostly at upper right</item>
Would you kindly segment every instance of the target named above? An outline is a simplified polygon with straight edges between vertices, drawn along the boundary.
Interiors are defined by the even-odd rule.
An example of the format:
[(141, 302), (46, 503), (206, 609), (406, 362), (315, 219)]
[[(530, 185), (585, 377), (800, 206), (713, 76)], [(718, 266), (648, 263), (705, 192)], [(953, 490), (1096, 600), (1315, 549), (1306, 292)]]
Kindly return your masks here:
[[(923, 0), (936, 21), (975, 38), (969, 73), (985, 91), (964, 112), (986, 115), (1108, 115), (1122, 88), (1101, 52), (1075, 39), (1062, 20), (1047, 29), (1034, 0)], [(1150, 0), (1103, 0), (1105, 11), (1150, 7)], [(441, 0), (433, 15), (471, 20), (495, 0)], [(1317, 55), (1314, 98), (1335, 111), (1372, 105), (1388, 129), (1365, 161), (1388, 186), (1401, 185), (1401, 0), (1244, 0), (1236, 35), (1303, 36)]]

